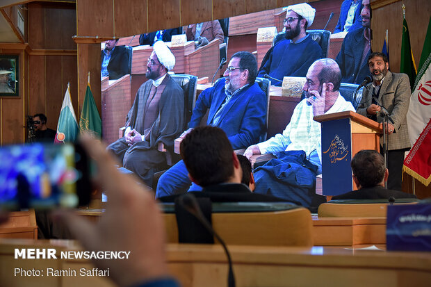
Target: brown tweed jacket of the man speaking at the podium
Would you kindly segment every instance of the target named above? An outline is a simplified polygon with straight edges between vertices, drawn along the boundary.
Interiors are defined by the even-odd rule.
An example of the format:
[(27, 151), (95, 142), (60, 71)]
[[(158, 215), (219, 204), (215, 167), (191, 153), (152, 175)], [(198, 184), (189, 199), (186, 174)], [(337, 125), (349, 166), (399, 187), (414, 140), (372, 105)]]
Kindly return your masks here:
[[(368, 87), (373, 90), (373, 84), (370, 83)], [(359, 104), (356, 112), (366, 117), (371, 117), (366, 113), (366, 108), (371, 105), (371, 92), (364, 88), (361, 104)], [(380, 87), (379, 97), (380, 104), (384, 106), (391, 115), (395, 130), (389, 135), (387, 142), (388, 150), (405, 149), (409, 148), (410, 140), (407, 131), (406, 115), (409, 110), (410, 103), (410, 82), (407, 74), (396, 74), (388, 71), (383, 79), (382, 86)], [(377, 122), (383, 122), (383, 117), (377, 115)], [(391, 123), (391, 122), (389, 122)], [(383, 137), (380, 137), (380, 145), (383, 144)]]

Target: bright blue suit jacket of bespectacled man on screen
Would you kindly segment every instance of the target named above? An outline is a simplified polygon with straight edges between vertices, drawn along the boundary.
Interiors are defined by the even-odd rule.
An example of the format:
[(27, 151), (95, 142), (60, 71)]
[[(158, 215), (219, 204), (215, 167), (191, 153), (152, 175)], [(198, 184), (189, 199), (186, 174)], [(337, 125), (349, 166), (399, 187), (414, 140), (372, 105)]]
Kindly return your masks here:
[[(197, 98), (188, 126), (200, 125), (209, 109), (206, 124), (211, 124), (215, 113), (225, 99), (225, 79), (204, 90)], [(233, 95), (220, 115), (217, 126), (225, 131), (234, 149), (244, 149), (259, 141), (266, 130), (267, 98), (257, 83)]]

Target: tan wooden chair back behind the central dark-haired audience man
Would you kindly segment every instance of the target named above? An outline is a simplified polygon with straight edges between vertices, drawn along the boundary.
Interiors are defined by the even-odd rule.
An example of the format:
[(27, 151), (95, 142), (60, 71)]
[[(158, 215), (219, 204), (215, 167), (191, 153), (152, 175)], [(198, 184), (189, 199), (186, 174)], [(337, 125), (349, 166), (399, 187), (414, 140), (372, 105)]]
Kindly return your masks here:
[[(168, 243), (178, 243), (174, 204), (162, 204)], [(227, 245), (313, 245), (313, 224), (307, 208), (286, 203), (213, 203), (212, 227)], [(216, 242), (216, 241), (215, 241)]]

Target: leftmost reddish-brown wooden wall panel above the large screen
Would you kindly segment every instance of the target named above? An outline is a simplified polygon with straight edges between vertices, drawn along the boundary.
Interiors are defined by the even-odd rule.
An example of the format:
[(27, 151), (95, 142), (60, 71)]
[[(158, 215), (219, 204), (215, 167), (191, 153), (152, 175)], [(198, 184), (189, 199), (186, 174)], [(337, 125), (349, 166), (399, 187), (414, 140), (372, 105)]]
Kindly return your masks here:
[[(125, 3), (128, 3), (125, 2)], [(111, 37), (113, 28), (113, 0), (76, 1), (76, 35)], [(129, 17), (129, 15), (124, 15)]]

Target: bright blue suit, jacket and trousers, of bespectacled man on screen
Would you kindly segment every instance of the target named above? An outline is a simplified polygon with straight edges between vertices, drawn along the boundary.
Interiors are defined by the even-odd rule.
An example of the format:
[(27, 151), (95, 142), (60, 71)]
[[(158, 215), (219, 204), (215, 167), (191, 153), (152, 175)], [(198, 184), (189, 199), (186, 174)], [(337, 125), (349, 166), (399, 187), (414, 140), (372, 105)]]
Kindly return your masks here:
[[(188, 126), (199, 126), (208, 109), (206, 124), (211, 124), (225, 97), (224, 79), (204, 90), (196, 101)], [(266, 95), (257, 83), (243, 88), (227, 102), (215, 126), (225, 131), (234, 149), (244, 149), (259, 142), (265, 132), (266, 103)], [(191, 183), (187, 174), (183, 161), (172, 166), (158, 181), (156, 197), (186, 192)]]

